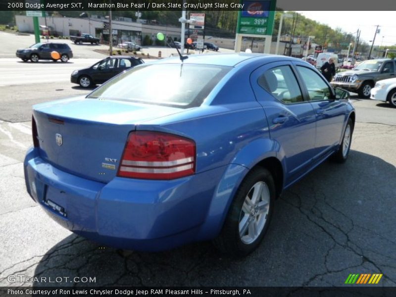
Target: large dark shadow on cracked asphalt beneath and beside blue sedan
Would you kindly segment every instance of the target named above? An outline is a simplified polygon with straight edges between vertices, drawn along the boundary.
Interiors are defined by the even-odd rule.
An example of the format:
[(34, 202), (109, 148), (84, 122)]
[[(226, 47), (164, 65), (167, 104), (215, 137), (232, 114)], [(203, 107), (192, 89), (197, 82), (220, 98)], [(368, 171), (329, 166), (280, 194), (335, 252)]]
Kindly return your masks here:
[(353, 270), (395, 286), (395, 184), (393, 164), (351, 150), (345, 164), (324, 162), (276, 200), (264, 241), (245, 258), (209, 242), (148, 253), (70, 235), (34, 276), (68, 277), (56, 286), (342, 286)]

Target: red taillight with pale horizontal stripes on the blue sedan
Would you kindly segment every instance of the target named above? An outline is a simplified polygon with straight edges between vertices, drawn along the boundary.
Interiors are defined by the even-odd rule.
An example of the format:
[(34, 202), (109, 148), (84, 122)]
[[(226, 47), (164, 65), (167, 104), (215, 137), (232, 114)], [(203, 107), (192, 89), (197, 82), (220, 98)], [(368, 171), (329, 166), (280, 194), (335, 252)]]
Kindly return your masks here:
[(118, 176), (170, 180), (195, 173), (196, 145), (191, 139), (153, 131), (131, 132)]

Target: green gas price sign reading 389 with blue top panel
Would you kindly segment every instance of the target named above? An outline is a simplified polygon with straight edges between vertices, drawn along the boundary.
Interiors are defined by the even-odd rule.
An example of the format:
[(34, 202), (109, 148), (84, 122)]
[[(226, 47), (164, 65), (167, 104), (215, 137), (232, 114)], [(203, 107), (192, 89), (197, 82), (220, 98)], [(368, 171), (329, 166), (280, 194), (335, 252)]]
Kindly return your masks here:
[(276, 0), (241, 0), (243, 9), (238, 14), (237, 33), (272, 35)]

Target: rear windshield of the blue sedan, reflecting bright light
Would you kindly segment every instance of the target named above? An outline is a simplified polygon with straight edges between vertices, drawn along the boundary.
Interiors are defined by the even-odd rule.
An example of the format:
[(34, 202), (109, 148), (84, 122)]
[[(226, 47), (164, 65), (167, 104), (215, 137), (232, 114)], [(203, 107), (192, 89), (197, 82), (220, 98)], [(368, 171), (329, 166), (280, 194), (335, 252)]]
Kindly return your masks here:
[(199, 106), (231, 68), (201, 64), (139, 66), (115, 77), (87, 98)]

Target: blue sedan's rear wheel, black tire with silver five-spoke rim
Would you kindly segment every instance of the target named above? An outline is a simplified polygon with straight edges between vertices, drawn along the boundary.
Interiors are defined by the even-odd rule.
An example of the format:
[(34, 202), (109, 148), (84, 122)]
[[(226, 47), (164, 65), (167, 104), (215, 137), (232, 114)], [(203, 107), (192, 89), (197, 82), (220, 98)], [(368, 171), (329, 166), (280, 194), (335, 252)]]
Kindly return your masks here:
[[(254, 203), (255, 206), (250, 207), (248, 203), (245, 204), (245, 200), (253, 196), (254, 191), (258, 189), (253, 189), (253, 186), (256, 185), (262, 185), (263, 190), (260, 191), (261, 195)], [(275, 195), (275, 183), (271, 173), (263, 167), (253, 168), (238, 188), (220, 235), (213, 240), (213, 244), (221, 252), (234, 257), (243, 257), (255, 250), (268, 229), (273, 213)], [(264, 196), (266, 197), (265, 201), (261, 200)], [(266, 203), (267, 200), (269, 204)], [(251, 200), (249, 201), (251, 202)], [(259, 204), (262, 204), (261, 207), (267, 205), (262, 214), (257, 210)], [(263, 222), (262, 219), (264, 219)], [(242, 227), (245, 232), (240, 230), (240, 223), (243, 221), (246, 222), (243, 225), (247, 226), (246, 228)], [(257, 221), (258, 226), (255, 225)], [(258, 229), (254, 238), (249, 237), (251, 224)]]

